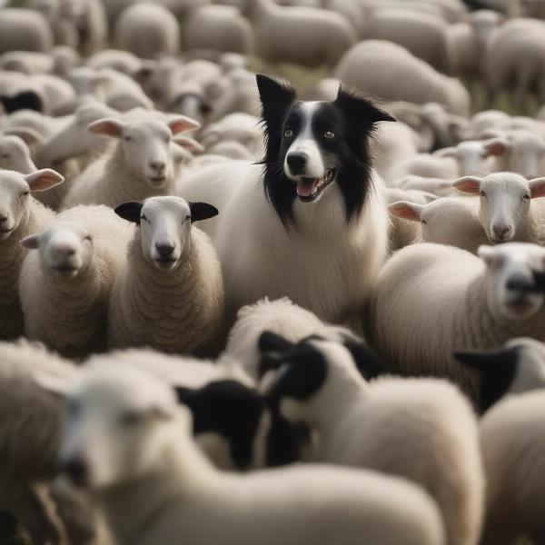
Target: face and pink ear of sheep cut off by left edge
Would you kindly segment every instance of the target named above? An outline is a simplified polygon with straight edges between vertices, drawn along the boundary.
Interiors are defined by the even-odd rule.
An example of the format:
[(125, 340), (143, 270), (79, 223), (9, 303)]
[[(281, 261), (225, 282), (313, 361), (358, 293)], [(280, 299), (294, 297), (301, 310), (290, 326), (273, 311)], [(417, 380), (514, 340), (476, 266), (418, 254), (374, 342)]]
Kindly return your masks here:
[(0, 173), (0, 242), (8, 239), (15, 229), (28, 219), (31, 191), (44, 191), (63, 180), (63, 176), (49, 169), (26, 175), (15, 171), (2, 171)]

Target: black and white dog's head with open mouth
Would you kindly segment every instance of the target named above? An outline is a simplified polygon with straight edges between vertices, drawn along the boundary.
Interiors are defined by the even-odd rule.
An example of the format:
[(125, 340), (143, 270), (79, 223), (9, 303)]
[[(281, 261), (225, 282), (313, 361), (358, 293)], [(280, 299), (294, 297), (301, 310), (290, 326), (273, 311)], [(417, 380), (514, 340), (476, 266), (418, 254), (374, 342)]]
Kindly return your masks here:
[(362, 209), (371, 183), (370, 138), (375, 124), (395, 121), (370, 101), (339, 88), (332, 102), (301, 102), (290, 84), (257, 75), (266, 151), (265, 191), (286, 223), (292, 203), (318, 201), (332, 183), (347, 220)]

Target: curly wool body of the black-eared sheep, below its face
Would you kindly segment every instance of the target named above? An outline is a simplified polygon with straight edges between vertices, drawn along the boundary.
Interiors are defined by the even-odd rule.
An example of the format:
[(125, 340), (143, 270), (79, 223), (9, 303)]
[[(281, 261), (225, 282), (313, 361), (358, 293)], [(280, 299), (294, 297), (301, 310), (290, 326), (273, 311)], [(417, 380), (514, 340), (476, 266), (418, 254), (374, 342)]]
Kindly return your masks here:
[(151, 346), (162, 352), (210, 354), (223, 324), (221, 266), (208, 235), (191, 227), (191, 243), (173, 272), (144, 259), (140, 230), (129, 246), (109, 311), (111, 348)]

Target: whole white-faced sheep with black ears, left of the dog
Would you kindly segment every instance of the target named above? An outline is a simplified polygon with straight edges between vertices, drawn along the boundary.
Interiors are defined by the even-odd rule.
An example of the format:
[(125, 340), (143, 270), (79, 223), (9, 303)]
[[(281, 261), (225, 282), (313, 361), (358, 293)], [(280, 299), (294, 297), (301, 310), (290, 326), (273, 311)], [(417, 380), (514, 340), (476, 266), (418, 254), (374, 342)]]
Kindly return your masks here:
[(180, 197), (153, 197), (115, 209), (139, 224), (112, 292), (109, 345), (162, 352), (217, 352), (223, 331), (221, 266), (193, 222), (218, 211)]

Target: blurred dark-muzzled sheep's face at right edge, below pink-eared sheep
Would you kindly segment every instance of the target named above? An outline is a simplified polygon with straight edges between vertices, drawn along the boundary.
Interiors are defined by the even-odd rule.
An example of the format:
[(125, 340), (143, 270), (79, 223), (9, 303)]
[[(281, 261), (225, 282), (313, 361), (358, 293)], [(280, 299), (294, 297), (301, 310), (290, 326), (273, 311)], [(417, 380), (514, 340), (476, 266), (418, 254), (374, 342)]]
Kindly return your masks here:
[(511, 320), (530, 318), (543, 306), (543, 292), (533, 272), (545, 269), (545, 249), (530, 243), (481, 246), (479, 257), (487, 266), (487, 301), (490, 312)]

